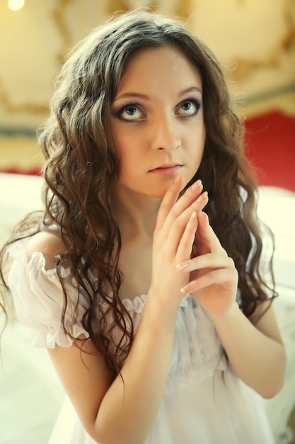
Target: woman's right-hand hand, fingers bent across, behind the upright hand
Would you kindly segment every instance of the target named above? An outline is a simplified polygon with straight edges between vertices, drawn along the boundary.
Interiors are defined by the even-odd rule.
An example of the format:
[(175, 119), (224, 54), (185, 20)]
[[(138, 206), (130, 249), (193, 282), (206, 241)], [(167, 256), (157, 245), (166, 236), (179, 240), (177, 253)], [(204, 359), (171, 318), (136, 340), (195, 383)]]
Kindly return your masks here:
[(238, 272), (203, 212), (197, 216), (196, 240), (197, 256), (177, 265), (190, 277), (181, 292), (192, 294), (209, 316), (222, 316), (235, 305)]

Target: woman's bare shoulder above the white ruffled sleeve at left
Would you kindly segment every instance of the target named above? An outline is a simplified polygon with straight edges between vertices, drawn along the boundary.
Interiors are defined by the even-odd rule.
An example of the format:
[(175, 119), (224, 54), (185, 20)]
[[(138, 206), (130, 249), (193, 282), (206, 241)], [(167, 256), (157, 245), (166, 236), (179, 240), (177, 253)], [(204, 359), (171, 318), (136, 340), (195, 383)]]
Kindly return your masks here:
[(62, 239), (52, 231), (40, 231), (33, 235), (25, 244), (25, 253), (30, 261), (35, 252), (40, 252), (45, 258), (45, 268), (48, 270), (56, 265), (57, 257), (63, 251)]

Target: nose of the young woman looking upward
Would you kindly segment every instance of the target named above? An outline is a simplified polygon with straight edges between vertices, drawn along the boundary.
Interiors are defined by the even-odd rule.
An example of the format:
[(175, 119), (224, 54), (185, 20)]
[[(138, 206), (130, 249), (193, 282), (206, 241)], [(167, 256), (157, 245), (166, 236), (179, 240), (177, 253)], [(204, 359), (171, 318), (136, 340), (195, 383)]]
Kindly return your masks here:
[(176, 150), (181, 145), (177, 122), (170, 116), (154, 118), (149, 128), (153, 150)]

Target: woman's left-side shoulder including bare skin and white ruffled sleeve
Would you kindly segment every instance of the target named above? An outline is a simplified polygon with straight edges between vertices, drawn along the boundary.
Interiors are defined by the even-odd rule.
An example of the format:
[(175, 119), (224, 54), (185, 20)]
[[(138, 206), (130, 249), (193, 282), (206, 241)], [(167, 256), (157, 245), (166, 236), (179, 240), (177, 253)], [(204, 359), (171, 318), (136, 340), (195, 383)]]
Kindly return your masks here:
[[(64, 251), (58, 234), (41, 231), (23, 238), (9, 251), (14, 261), (8, 275), (18, 319), (28, 328), (25, 338), (37, 347), (69, 347), (74, 338), (88, 338), (81, 319), (88, 308), (83, 294), (71, 279), (69, 269), (59, 267)], [(63, 282), (61, 282), (62, 277)], [(64, 306), (64, 291), (69, 296)], [(73, 316), (75, 313), (75, 316)], [(69, 328), (67, 334), (64, 326)]]

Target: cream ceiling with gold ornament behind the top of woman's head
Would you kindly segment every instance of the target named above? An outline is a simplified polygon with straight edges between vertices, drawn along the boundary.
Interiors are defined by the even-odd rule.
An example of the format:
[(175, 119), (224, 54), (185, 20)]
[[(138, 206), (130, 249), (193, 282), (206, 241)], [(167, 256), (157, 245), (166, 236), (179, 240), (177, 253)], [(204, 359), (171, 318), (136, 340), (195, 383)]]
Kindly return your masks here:
[(113, 11), (153, 5), (190, 17), (187, 26), (224, 64), (235, 96), (294, 88), (294, 0), (26, 0), (20, 11), (1, 0), (0, 128), (40, 126), (67, 50)]

